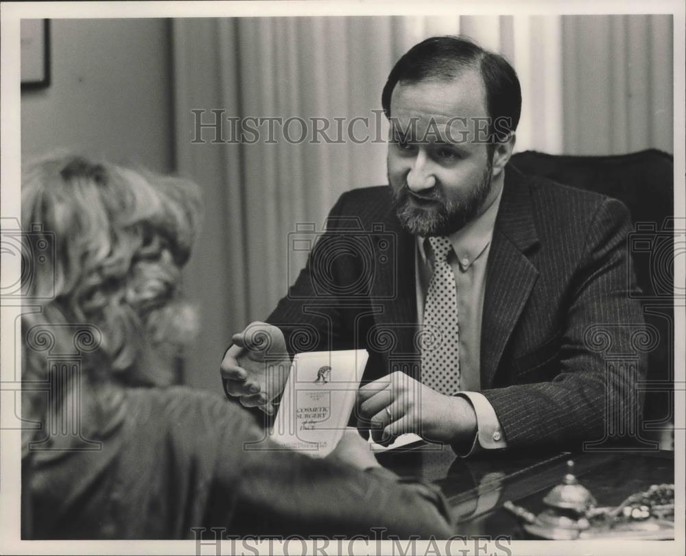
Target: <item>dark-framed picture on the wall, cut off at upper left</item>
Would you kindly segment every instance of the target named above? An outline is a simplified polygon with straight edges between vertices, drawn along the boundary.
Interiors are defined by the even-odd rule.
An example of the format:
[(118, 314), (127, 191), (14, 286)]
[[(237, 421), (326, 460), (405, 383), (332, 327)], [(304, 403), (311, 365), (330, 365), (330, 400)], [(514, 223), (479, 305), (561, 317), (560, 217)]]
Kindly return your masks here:
[(21, 88), (50, 84), (50, 26), (47, 19), (21, 20)]

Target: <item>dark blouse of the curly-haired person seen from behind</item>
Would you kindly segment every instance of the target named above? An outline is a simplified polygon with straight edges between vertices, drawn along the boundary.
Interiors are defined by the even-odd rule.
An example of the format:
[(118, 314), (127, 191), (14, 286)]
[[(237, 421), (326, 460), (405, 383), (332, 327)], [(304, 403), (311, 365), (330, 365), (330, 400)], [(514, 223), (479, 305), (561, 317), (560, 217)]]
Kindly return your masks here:
[(386, 534), (446, 538), (427, 485), (279, 449), (237, 404), (187, 387), (120, 392), (100, 450), (34, 451), (24, 462), (25, 537), (184, 539)]

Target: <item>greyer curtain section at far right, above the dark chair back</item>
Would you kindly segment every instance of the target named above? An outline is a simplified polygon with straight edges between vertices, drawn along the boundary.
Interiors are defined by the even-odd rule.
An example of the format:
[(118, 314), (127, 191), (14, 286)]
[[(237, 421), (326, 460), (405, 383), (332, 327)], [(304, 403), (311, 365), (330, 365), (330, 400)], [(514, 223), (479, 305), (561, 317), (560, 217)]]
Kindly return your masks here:
[(565, 151), (674, 152), (669, 14), (563, 19)]

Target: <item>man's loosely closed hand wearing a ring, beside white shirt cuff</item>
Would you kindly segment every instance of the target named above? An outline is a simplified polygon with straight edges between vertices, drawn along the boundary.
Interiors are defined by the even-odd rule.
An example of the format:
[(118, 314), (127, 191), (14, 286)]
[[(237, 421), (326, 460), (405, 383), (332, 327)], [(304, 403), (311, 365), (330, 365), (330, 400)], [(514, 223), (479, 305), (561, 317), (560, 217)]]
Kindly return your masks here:
[(473, 439), (477, 432), (469, 401), (438, 394), (403, 372), (360, 387), (357, 400), (362, 418), (372, 422), (377, 442), (415, 433), (434, 442), (456, 444)]

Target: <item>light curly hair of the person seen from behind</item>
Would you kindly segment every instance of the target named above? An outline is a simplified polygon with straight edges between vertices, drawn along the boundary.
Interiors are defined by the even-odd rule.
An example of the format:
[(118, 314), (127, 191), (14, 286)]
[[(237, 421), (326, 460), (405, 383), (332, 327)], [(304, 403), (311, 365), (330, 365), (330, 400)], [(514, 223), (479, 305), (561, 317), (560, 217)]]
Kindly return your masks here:
[[(143, 368), (145, 354), (182, 347), (196, 328), (179, 285), (201, 212), (198, 186), (179, 178), (80, 156), (23, 168), (23, 295), (40, 304), (22, 317), (24, 380), (51, 379), (36, 343), (49, 337), (51, 352), (71, 353), (75, 327), (88, 326), (99, 345), (82, 354), (82, 379), (172, 382), (173, 369)], [(51, 248), (32, 252), (40, 244)]]

